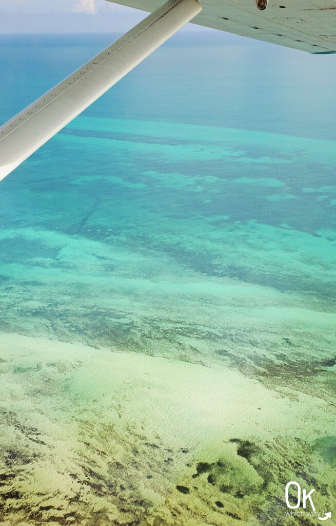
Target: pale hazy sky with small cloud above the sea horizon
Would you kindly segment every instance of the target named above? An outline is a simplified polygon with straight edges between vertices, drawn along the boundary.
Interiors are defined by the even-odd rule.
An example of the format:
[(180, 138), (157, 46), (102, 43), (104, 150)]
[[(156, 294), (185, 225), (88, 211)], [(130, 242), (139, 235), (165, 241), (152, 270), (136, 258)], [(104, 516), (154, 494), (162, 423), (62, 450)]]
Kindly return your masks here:
[(0, 0), (0, 34), (125, 32), (144, 17), (106, 0)]

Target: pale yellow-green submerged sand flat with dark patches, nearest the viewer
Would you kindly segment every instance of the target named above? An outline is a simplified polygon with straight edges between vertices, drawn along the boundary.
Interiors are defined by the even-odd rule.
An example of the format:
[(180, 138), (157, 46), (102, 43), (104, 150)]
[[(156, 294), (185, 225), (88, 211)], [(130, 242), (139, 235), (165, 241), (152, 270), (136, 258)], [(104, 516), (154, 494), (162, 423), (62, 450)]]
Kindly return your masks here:
[(217, 364), (14, 334), (1, 356), (5, 526), (296, 524), (289, 480), (334, 509), (336, 418), (316, 396)]

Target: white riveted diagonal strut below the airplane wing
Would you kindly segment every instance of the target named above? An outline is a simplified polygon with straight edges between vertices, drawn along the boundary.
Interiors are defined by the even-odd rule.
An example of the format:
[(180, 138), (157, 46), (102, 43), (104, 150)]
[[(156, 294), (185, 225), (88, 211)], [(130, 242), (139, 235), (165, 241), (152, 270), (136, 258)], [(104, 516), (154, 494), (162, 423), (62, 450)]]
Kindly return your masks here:
[(169, 0), (0, 127), (0, 180), (202, 10)]

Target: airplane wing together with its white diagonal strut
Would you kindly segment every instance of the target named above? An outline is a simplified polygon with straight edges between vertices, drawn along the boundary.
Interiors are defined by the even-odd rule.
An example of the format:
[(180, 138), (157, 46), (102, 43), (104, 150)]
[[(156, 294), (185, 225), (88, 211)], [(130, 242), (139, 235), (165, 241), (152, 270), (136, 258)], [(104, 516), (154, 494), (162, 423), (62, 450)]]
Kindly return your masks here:
[(202, 6), (197, 0), (168, 0), (162, 6), (160, 0), (117, 3), (152, 14), (0, 127), (0, 180), (192, 20), (310, 53), (336, 52), (336, 0), (202, 0)]

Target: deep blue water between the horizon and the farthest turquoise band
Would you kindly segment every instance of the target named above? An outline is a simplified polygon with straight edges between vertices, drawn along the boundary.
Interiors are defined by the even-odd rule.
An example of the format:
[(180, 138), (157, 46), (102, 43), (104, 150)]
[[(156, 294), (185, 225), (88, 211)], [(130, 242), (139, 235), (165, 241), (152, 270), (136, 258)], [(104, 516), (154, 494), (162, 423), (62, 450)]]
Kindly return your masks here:
[[(0, 120), (119, 36), (0, 36)], [(335, 62), (216, 31), (180, 33), (86, 115), (334, 139)]]

